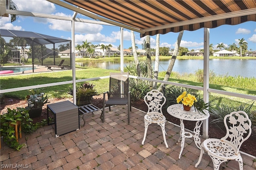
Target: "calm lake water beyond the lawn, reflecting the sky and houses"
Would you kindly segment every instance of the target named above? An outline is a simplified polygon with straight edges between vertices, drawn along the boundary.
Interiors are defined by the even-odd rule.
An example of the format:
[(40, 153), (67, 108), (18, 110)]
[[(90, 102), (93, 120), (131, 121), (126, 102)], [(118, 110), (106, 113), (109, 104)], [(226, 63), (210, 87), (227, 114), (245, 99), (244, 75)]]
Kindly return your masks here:
[[(132, 61), (124, 61), (124, 67)], [(155, 61), (152, 60), (154, 66)], [(166, 71), (170, 59), (161, 59), (159, 61), (159, 71)], [(101, 62), (76, 62), (76, 65), (82, 67), (94, 67), (102, 69), (120, 69), (118, 61), (101, 61)], [(232, 77), (256, 77), (256, 59), (210, 59), (210, 71), (216, 75), (230, 75)], [(172, 71), (182, 73), (195, 73), (198, 69), (203, 69), (204, 61), (202, 59), (176, 59)]]

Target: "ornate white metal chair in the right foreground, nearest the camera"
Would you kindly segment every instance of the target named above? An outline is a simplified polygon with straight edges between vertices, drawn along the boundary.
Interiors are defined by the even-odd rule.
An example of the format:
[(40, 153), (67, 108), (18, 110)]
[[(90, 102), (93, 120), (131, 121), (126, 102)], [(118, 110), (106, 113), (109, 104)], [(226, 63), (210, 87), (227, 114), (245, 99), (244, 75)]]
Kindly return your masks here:
[(220, 168), (222, 162), (236, 160), (240, 170), (243, 169), (243, 160), (239, 149), (242, 143), (250, 137), (252, 132), (251, 121), (244, 111), (232, 112), (224, 117), (226, 136), (221, 139), (209, 138), (202, 142), (201, 153), (195, 167), (202, 160), (204, 151), (212, 158), (214, 170)]

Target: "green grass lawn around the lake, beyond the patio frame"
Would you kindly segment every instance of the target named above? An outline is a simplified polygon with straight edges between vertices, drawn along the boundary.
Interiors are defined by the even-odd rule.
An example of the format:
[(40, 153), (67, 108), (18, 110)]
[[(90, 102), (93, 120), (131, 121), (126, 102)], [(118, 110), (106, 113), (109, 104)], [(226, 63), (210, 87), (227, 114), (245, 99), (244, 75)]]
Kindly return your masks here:
[[(170, 57), (170, 56), (168, 56)], [(141, 57), (143, 58), (143, 57)], [(165, 58), (162, 57), (161, 58)], [(183, 57), (178, 57), (183, 58)], [(193, 57), (195, 58), (195, 57)], [(200, 57), (196, 57), (200, 58)], [(201, 57), (202, 58), (202, 57)], [(220, 57), (219, 57), (220, 58)], [(230, 57), (228, 57), (230, 59)], [(237, 58), (237, 57), (232, 57)], [(246, 58), (254, 58), (256, 57), (246, 57)], [(242, 57), (242, 59), (246, 59)], [(56, 58), (56, 63), (59, 63), (62, 58)], [(117, 60), (120, 57), (108, 57), (108, 58), (99, 58), (100, 60)], [(124, 57), (125, 60), (133, 59), (133, 57)], [(52, 59), (45, 59), (44, 63), (50, 62)], [(98, 60), (98, 59), (76, 59), (76, 61), (85, 61), (85, 60)], [(30, 63), (31, 64), (31, 63)], [(99, 68), (83, 68), (76, 70), (76, 79), (86, 79), (92, 77), (102, 77), (109, 75), (110, 72), (118, 72), (114, 70), (106, 70), (106, 69), (99, 69)], [(159, 73), (159, 79), (162, 80), (164, 77), (164, 72)], [(11, 89), (17, 87), (26, 87), (31, 85), (41, 85), (47, 83), (57, 83), (62, 81), (71, 81), (72, 80), (72, 70), (66, 70), (62, 72), (48, 72), (48, 73), (37, 73), (37, 74), (30, 74), (30, 75), (12, 75), (12, 76), (1, 76), (1, 89)], [(170, 76), (169, 81), (194, 85), (202, 87), (203, 83), (197, 80), (197, 76), (195, 74), (185, 74), (179, 75), (178, 73), (172, 73)], [(98, 93), (103, 93), (108, 91), (108, 79), (100, 79), (96, 81), (92, 81), (91, 83), (95, 84), (95, 88), (97, 89)], [(81, 84), (81, 83), (78, 83)], [(234, 93), (241, 93), (247, 95), (254, 95), (256, 96), (256, 79), (255, 78), (242, 78), (242, 77), (221, 77), (216, 76), (210, 78), (210, 85), (209, 87), (212, 89), (230, 91)], [(72, 84), (67, 85), (58, 85), (52, 87), (45, 87), (44, 92), (47, 93), (50, 98), (63, 98), (63, 97), (72, 97), (67, 93), (68, 88), (72, 87)], [(5, 97), (16, 97), (19, 99), (25, 99), (26, 95), (28, 95), (28, 91), (17, 91), (11, 93), (4, 93)], [(225, 96), (219, 95), (215, 93), (210, 93), (210, 101), (214, 103), (228, 103), (229, 105), (239, 105), (239, 103), (251, 103), (248, 99), (241, 99), (238, 97), (232, 96)], [(256, 105), (256, 104), (254, 104)], [(255, 109), (256, 110), (256, 109)]]

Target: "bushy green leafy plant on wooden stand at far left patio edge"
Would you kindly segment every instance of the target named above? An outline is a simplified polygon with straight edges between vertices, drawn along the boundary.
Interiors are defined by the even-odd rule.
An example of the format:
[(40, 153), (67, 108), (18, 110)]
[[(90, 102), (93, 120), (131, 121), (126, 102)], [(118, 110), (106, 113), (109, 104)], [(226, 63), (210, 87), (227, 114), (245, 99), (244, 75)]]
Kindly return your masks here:
[(16, 150), (20, 150), (20, 148), (23, 146), (23, 144), (19, 144), (16, 141), (16, 136), (14, 136), (14, 125), (18, 125), (18, 121), (21, 123), (20, 126), (22, 126), (22, 130), (27, 131), (27, 128), (31, 127), (26, 126), (26, 124), (29, 124), (29, 122), (33, 120), (30, 119), (28, 110), (20, 107), (17, 107), (17, 109), (8, 108), (7, 113), (0, 115), (1, 136), (3, 136), (4, 142), (8, 146)]

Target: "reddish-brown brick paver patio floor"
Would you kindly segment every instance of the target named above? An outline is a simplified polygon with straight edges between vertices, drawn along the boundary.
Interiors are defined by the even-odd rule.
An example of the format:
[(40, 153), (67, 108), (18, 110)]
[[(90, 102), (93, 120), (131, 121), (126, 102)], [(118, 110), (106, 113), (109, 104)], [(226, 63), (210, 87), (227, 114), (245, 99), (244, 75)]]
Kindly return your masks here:
[[(108, 111), (108, 109), (106, 109)], [(200, 150), (193, 138), (186, 138), (182, 157), (179, 159), (180, 127), (166, 122), (166, 140), (163, 142), (159, 125), (148, 126), (144, 145), (144, 115), (132, 108), (128, 125), (127, 106), (114, 106), (106, 112), (105, 123), (101, 112), (85, 115), (86, 124), (79, 130), (55, 137), (54, 125), (44, 126), (19, 139), (25, 146), (14, 151), (2, 142), (1, 169), (28, 170), (212, 170), (210, 156), (204, 154), (198, 168)], [(80, 125), (83, 125), (80, 118)], [(256, 168), (255, 158), (242, 154), (244, 170)], [(6, 168), (8, 167), (9, 168)], [(10, 167), (11, 166), (11, 167)], [(224, 166), (224, 164), (222, 164)], [(19, 168), (17, 168), (19, 167)], [(234, 160), (226, 163), (225, 170), (238, 170)]]

